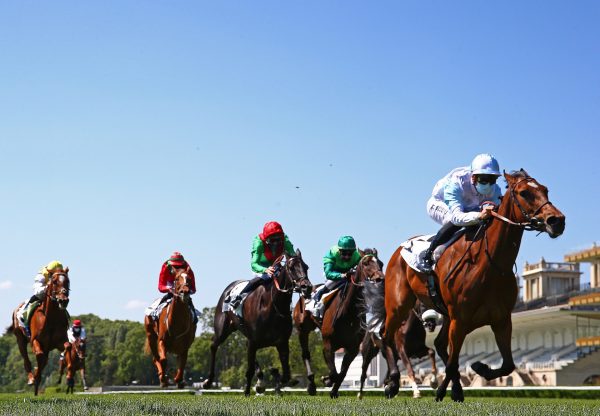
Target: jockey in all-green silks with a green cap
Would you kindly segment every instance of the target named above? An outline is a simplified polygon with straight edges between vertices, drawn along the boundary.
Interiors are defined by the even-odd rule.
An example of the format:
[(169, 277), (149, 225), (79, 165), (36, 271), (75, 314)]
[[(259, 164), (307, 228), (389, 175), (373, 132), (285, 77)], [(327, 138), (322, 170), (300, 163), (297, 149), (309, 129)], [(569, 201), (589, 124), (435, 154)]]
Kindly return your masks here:
[(358, 264), (360, 257), (356, 242), (349, 235), (340, 237), (337, 245), (331, 247), (325, 254), (325, 257), (323, 257), (323, 270), (327, 281), (313, 293), (315, 310), (313, 315), (315, 318), (321, 319), (323, 317), (325, 305), (320, 303), (321, 297), (345, 282), (347, 273)]

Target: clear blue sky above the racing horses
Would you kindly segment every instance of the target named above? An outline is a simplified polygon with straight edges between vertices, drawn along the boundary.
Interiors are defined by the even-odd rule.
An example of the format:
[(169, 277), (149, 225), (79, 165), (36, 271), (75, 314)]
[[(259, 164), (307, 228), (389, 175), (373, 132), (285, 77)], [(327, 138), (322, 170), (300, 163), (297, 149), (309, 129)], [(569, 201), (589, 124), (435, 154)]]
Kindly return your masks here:
[(268, 220), (314, 282), (340, 235), (387, 262), (481, 152), (567, 217), (519, 270), (561, 261), (600, 239), (599, 21), (596, 1), (3, 2), (2, 322), (53, 259), (72, 314), (142, 320), (173, 250), (212, 306)]

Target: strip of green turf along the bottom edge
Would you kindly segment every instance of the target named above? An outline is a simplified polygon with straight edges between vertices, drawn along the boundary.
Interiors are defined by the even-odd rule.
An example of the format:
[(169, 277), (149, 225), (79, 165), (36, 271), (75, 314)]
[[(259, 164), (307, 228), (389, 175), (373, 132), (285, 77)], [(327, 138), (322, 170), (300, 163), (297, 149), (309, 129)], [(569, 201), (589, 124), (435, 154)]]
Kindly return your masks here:
[(574, 399), (472, 398), (453, 403), (355, 397), (274, 396), (215, 397), (193, 395), (40, 396), (0, 395), (3, 415), (207, 415), (207, 416), (340, 416), (340, 415), (600, 415), (600, 402)]

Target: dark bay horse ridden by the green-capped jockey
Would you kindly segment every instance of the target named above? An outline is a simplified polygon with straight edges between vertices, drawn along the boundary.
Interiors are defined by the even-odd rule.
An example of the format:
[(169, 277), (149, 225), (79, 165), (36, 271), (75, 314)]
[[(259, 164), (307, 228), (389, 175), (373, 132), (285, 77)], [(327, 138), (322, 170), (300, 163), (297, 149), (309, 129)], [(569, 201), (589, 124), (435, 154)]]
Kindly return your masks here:
[[(362, 304), (362, 288), (365, 281), (382, 279), (378, 259), (367, 254), (358, 262), (355, 270), (348, 272), (349, 278), (345, 286), (338, 289), (333, 299), (328, 303), (323, 314), (322, 323), (318, 322), (312, 313), (306, 310), (304, 299), (300, 299), (294, 307), (294, 325), (298, 330), (298, 338), (302, 348), (302, 360), (306, 366), (308, 378), (307, 392), (314, 396), (317, 387), (314, 373), (310, 365), (308, 336), (319, 328), (323, 337), (323, 356), (329, 374), (322, 378), (331, 398), (339, 396), (339, 388), (346, 377), (350, 364), (356, 358), (359, 347), (365, 335), (365, 311)], [(344, 358), (338, 373), (335, 367), (335, 352), (344, 349)]]

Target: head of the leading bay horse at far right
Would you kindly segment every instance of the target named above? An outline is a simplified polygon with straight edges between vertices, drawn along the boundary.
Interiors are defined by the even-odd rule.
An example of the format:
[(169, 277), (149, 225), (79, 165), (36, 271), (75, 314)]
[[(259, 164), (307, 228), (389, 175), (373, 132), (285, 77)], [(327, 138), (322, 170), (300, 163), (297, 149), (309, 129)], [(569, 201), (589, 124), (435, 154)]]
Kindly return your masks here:
[(546, 232), (551, 238), (565, 230), (565, 216), (548, 199), (548, 188), (520, 171), (504, 173), (509, 196), (517, 207), (517, 221), (528, 223), (536, 231)]

